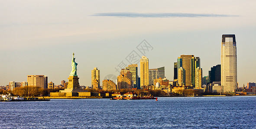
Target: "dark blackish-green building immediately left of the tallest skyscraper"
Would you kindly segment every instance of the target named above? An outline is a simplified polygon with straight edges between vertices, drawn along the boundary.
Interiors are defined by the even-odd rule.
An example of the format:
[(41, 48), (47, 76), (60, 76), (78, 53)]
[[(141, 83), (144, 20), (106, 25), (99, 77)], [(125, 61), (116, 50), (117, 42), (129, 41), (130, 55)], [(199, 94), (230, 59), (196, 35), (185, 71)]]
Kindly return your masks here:
[(212, 82), (219, 82), (221, 81), (221, 65), (217, 64), (216, 66), (213, 66), (211, 68), (211, 71), (209, 71), (209, 83)]

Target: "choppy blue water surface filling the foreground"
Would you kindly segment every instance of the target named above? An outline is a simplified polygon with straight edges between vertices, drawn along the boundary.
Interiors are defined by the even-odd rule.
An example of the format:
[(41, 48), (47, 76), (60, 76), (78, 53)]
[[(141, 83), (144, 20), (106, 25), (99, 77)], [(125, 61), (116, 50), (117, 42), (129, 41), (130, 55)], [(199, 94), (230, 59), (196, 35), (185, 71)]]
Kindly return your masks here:
[(0, 128), (256, 128), (256, 96), (0, 102)]

